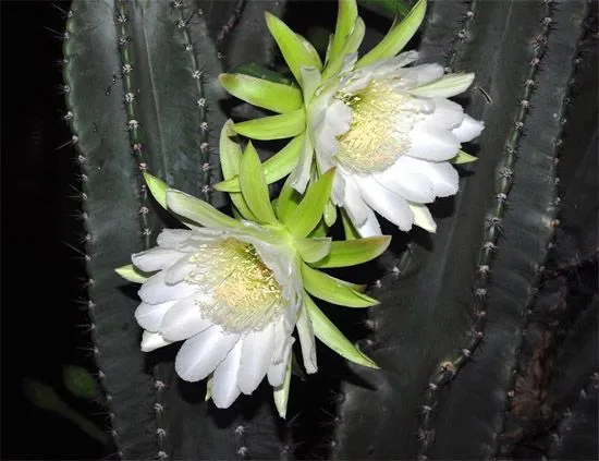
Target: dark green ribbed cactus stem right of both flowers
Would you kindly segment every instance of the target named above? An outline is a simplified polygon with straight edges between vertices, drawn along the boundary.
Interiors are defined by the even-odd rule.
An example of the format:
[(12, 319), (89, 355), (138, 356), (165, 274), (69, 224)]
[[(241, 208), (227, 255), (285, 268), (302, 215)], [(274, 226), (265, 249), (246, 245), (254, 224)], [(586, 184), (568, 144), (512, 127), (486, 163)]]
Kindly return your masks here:
[(382, 305), (370, 312), (378, 328), (366, 352), (382, 372), (354, 368), (374, 390), (343, 386), (335, 458), (499, 453), (558, 223), (554, 160), (585, 12), (584, 1), (429, 7), (421, 61), (445, 56), (451, 70), (476, 73), (465, 109), (487, 128), (473, 174), (453, 204), (436, 206), (449, 217), (428, 247), (415, 245), (409, 264), (372, 289)]

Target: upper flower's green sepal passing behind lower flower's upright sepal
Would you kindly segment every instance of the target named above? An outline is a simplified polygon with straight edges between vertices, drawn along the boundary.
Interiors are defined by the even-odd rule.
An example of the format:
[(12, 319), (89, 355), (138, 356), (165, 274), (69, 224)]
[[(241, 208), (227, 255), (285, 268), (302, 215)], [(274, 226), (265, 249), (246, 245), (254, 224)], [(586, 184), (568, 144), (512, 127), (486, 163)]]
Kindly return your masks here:
[[(262, 163), (262, 170), (265, 172), (265, 178), (267, 184), (272, 184), (273, 182), (279, 181), (280, 179), (286, 177), (293, 171), (302, 154), (302, 148), (304, 146), (306, 133), (302, 133), (294, 138), (292, 138), (285, 147), (270, 157)], [(222, 156), (222, 147), (221, 147)], [(236, 172), (235, 172), (236, 174)], [(228, 179), (227, 181), (219, 182), (215, 184), (217, 191), (222, 192), (240, 192), (240, 178), (237, 175)]]

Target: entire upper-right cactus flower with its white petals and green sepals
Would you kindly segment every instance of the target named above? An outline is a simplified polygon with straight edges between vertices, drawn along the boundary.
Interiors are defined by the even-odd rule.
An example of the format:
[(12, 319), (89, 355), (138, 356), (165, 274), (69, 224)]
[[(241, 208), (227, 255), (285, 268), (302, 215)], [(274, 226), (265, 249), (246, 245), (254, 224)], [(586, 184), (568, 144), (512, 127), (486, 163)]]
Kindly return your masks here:
[[(341, 0), (325, 64), (311, 45), (268, 15), (269, 29), (301, 90), (239, 74), (221, 76), (234, 96), (280, 113), (236, 123), (233, 130), (257, 139), (293, 136), (269, 159), (267, 181), (290, 174), (289, 184), (303, 193), (315, 155), (318, 173), (335, 167), (331, 201), (345, 208), (351, 221), (345, 228), (354, 234), (380, 235), (374, 211), (402, 231), (416, 225), (435, 232), (425, 204), (457, 192), (457, 172), (450, 162), (475, 160), (461, 144), (478, 136), (484, 124), (448, 99), (466, 90), (474, 74), (444, 74), (439, 64), (407, 68), (418, 53), (398, 54), (419, 27), (425, 10), (426, 1), (418, 1), (358, 59), (365, 25), (355, 1)], [(233, 179), (217, 187), (235, 191), (239, 185)]]

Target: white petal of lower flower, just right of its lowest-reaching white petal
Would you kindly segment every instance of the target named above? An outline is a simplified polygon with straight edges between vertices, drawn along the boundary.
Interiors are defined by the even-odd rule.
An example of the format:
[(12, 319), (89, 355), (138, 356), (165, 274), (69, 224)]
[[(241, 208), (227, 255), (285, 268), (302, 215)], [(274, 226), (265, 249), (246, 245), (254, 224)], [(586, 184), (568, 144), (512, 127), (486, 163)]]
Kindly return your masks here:
[[(272, 362), (274, 350), (274, 325), (261, 331), (250, 331), (243, 339), (237, 386), (243, 393), (252, 393), (259, 386)], [(281, 339), (282, 341), (282, 339)]]

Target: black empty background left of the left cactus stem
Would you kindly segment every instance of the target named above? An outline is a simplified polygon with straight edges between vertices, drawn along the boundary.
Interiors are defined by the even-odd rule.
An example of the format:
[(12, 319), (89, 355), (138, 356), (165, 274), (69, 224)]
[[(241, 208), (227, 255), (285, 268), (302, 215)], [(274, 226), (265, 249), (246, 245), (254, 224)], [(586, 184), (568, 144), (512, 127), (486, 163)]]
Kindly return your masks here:
[[(58, 8), (57, 8), (58, 7)], [(102, 409), (73, 397), (62, 366), (94, 373), (78, 308), (82, 260), (76, 156), (61, 121), (64, 1), (1, 1), (2, 17), (2, 459), (98, 459), (102, 446), (39, 409), (24, 379), (51, 386), (100, 425)], [(69, 246), (71, 245), (71, 246)], [(103, 427), (102, 427), (103, 429)]]

